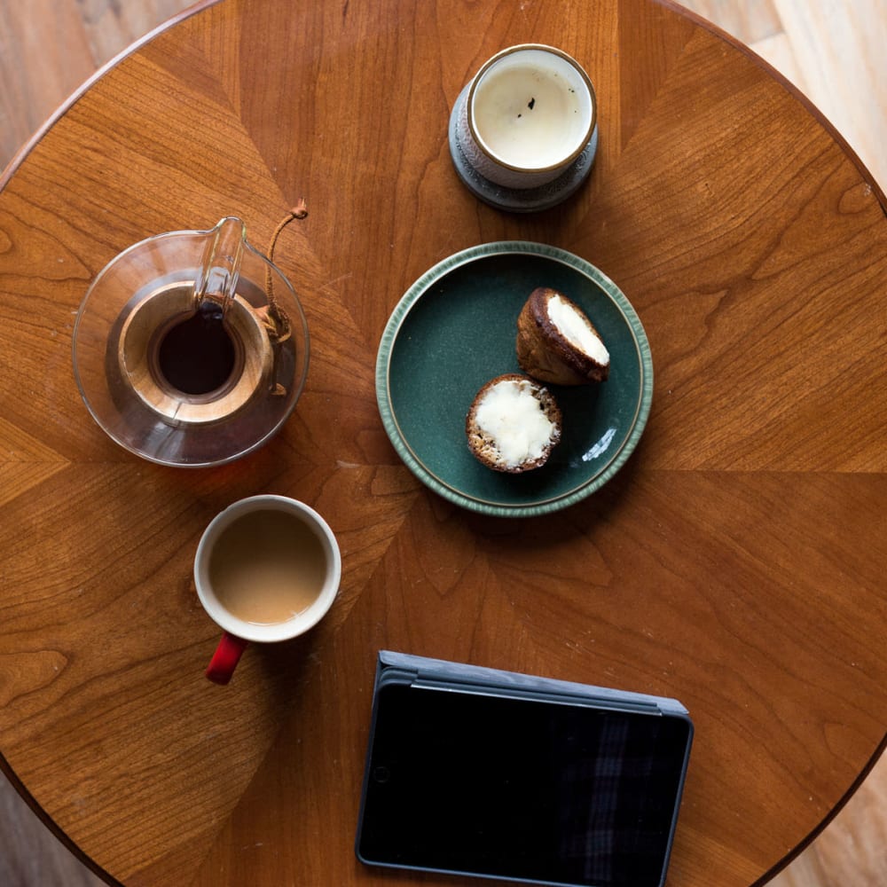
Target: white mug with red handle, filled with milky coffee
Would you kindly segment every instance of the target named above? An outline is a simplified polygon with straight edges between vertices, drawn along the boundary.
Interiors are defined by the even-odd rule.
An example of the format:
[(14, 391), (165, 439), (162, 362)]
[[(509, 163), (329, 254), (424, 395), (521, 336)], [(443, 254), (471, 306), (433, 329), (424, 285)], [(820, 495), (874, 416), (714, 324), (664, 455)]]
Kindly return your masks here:
[[(268, 593), (263, 580), (273, 575), (279, 585), (287, 571), (301, 567), (310, 569), (313, 577), (307, 602), (302, 600), (304, 589), (294, 589), (293, 600), (304, 606), (277, 620), (251, 618), (251, 610), (261, 608)], [(232, 599), (235, 578), (240, 591)], [(194, 557), (200, 603), (223, 632), (207, 678), (227, 684), (250, 642), (291, 640), (308, 632), (333, 606), (340, 580), (341, 553), (333, 530), (310, 506), (285, 496), (261, 495), (225, 508), (204, 530)], [(250, 584), (248, 593), (243, 592), (244, 582)], [(277, 593), (286, 599), (286, 591)]]

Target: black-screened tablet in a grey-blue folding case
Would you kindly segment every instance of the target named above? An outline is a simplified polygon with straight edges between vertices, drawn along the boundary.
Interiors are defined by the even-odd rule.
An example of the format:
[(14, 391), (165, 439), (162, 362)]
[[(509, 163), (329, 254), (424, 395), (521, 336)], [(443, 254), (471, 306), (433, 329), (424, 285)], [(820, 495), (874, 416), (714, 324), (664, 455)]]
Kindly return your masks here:
[(661, 887), (692, 735), (675, 700), (383, 651), (357, 856)]

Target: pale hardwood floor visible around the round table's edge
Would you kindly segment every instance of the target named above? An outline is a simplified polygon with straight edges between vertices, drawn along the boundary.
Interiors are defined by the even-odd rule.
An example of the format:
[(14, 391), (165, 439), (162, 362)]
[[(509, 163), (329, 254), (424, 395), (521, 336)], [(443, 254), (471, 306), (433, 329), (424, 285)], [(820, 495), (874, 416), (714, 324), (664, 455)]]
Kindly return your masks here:
[[(59, 103), (187, 0), (0, 0), (0, 168)], [(781, 71), (887, 190), (887, 0), (685, 0)], [(0, 776), (0, 884), (93, 887)], [(887, 757), (771, 887), (887, 884)], [(717, 887), (717, 875), (712, 877)]]

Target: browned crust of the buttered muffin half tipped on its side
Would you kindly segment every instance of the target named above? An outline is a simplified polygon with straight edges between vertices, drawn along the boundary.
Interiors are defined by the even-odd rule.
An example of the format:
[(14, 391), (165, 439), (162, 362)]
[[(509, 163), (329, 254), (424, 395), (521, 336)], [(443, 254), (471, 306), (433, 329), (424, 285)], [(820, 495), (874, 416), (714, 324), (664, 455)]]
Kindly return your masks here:
[(559, 295), (575, 308), (593, 333), (600, 334), (576, 302), (549, 287), (530, 293), (517, 318), (517, 362), (524, 373), (553, 385), (589, 385), (607, 381), (609, 364), (599, 364), (568, 341), (554, 326), (548, 314), (548, 300)]

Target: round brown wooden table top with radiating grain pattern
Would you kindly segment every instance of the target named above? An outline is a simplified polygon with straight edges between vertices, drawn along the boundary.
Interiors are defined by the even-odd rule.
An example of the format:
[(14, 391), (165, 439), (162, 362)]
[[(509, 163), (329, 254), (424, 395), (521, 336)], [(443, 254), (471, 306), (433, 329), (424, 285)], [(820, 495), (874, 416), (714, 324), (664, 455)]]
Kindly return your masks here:
[[(460, 183), (446, 127), (483, 60), (530, 41), (587, 68), (600, 147), (573, 198), (517, 215)], [(110, 882), (414, 883), (352, 851), (380, 648), (685, 703), (673, 885), (763, 883), (883, 749), (887, 201), (701, 20), (655, 0), (200, 4), (2, 185), (0, 763)], [(302, 197), (275, 254), (312, 335), (285, 429), (193, 471), (112, 443), (71, 366), (90, 280), (226, 215), (267, 243)], [(622, 471), (530, 520), (428, 491), (374, 392), (412, 281), (505, 239), (614, 279), (655, 365)], [(192, 558), (217, 511), (264, 491), (326, 516), (341, 596), (216, 687)]]

